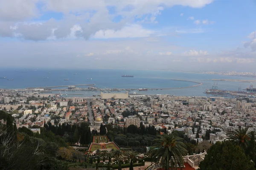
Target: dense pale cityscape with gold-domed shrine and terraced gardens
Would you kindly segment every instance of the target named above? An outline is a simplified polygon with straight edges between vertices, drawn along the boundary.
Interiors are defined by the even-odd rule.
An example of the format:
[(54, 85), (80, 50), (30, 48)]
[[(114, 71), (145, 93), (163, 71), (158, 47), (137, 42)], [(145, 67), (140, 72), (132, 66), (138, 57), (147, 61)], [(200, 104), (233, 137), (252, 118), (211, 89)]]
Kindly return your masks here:
[[(49, 97), (35, 91), (2, 89), (1, 116), (11, 116), (17, 140), (28, 135), (49, 142), (49, 134), (59, 136), (51, 136), (59, 144), (53, 155), (73, 160), (75, 167), (125, 169), (134, 161), (134, 168), (156, 170), (160, 164), (153, 163), (156, 160), (151, 155), (156, 136), (177, 134), (187, 154), (181, 161), (183, 168), (198, 169), (205, 166), (203, 160), (212, 144), (228, 139), (230, 131), (256, 130), (256, 98), (246, 96), (102, 93), (86, 98)], [(1, 117), (2, 125), (6, 124), (5, 116)], [(127, 159), (129, 155), (134, 157)]]

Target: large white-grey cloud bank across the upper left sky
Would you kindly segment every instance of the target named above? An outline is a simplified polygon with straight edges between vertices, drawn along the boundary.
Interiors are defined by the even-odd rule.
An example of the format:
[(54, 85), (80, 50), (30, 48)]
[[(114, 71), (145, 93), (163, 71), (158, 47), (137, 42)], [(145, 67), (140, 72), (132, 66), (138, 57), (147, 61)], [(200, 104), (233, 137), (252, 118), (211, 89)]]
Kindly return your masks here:
[[(0, 36), (35, 41), (79, 37), (88, 39), (95, 33), (101, 38), (148, 37), (150, 30), (137, 27), (139, 30), (132, 31), (139, 32), (141, 36), (134, 36), (127, 33), (123, 35), (122, 28), (127, 29), (129, 24), (134, 23), (134, 18), (157, 23), (157, 16), (164, 8), (176, 5), (202, 8), (212, 2), (213, 0), (100, 0), (97, 3), (94, 0), (0, 0)], [(115, 8), (114, 12), (108, 11), (109, 6)], [(58, 12), (63, 15), (63, 19), (32, 23), (47, 12)], [(113, 22), (113, 18), (117, 16), (122, 19)], [(11, 29), (16, 26), (16, 29)]]

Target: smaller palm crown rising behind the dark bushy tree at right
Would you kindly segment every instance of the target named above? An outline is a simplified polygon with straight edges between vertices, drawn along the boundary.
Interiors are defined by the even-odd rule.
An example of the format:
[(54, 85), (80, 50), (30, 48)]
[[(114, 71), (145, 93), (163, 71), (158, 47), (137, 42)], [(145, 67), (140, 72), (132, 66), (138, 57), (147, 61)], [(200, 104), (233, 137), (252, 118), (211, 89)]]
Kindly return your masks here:
[(241, 128), (239, 127), (236, 130), (230, 131), (227, 133), (228, 138), (230, 139), (234, 144), (237, 144), (239, 147), (241, 147), (244, 151), (248, 147), (248, 142), (250, 141), (250, 133), (248, 133), (248, 127)]

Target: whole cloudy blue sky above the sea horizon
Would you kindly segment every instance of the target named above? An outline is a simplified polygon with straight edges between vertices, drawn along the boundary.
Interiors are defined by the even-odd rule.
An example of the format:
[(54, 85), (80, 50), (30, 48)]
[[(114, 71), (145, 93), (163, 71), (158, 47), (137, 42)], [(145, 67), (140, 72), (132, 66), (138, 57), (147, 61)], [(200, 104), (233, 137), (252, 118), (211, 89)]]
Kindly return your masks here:
[(256, 1), (0, 0), (0, 62), (256, 72)]

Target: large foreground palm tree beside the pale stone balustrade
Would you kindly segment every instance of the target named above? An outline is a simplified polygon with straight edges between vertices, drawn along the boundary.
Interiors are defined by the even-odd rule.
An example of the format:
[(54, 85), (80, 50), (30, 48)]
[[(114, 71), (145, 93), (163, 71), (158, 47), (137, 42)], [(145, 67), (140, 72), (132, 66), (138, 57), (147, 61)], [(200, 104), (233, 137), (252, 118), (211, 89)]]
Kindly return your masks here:
[[(177, 164), (183, 167), (183, 156), (186, 156), (188, 151), (186, 145), (182, 142), (183, 139), (177, 136), (176, 133), (163, 134), (154, 140), (154, 149), (151, 152), (153, 161), (161, 164), (164, 170), (173, 169)], [(171, 165), (171, 166), (170, 166)]]

